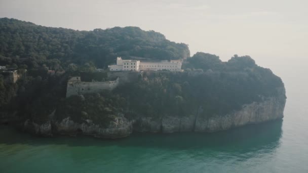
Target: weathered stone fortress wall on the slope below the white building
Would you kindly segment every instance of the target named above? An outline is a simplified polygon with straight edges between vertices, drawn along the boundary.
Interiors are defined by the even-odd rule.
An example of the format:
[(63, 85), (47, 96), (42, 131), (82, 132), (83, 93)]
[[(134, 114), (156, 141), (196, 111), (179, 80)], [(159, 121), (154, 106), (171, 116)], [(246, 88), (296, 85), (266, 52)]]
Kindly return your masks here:
[[(76, 77), (74, 77), (76, 78)], [(102, 82), (83, 82), (79, 80), (69, 80), (67, 82), (66, 97), (73, 95), (82, 95), (88, 93), (100, 93), (104, 90), (113, 90), (119, 85), (119, 78), (113, 81), (102, 81)]]

